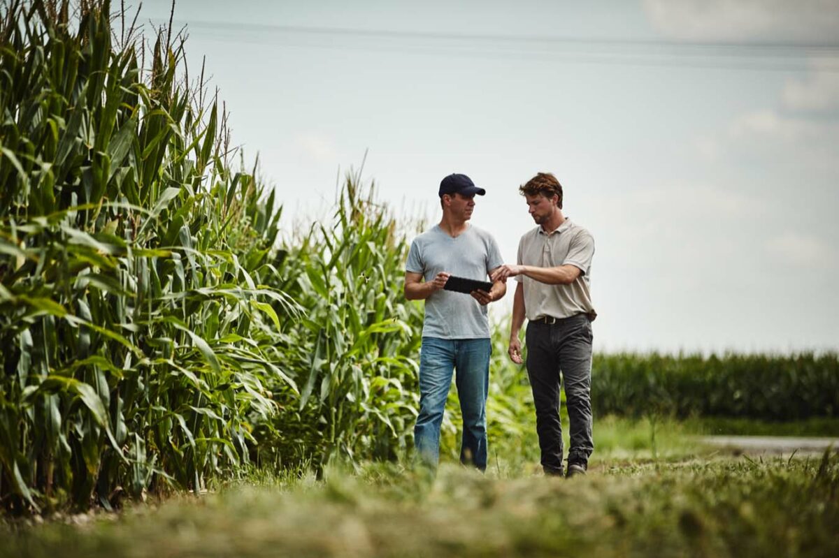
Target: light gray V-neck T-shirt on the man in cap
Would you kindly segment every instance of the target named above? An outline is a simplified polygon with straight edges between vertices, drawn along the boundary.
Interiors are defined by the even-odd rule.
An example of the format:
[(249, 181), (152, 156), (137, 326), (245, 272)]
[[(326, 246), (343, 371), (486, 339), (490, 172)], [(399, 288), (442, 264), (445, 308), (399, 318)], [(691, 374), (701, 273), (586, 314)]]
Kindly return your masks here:
[[(488, 281), (490, 271), (503, 264), (498, 243), (486, 230), (468, 225), (456, 238), (435, 225), (417, 236), (408, 252), (405, 270), (433, 281), (440, 271)], [(440, 290), (425, 299), (423, 337), (477, 339), (489, 337), (487, 307), (462, 292)]]

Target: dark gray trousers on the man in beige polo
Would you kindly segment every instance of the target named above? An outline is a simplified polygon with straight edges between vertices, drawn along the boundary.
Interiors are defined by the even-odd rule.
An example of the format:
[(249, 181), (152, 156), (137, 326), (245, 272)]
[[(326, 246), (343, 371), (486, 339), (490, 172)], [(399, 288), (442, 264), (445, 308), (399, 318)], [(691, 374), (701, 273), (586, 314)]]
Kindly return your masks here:
[(586, 314), (555, 323), (529, 322), (527, 371), (536, 407), (536, 433), (545, 473), (562, 472), (560, 371), (571, 422), (569, 463), (587, 464), (591, 438), (591, 321)]

